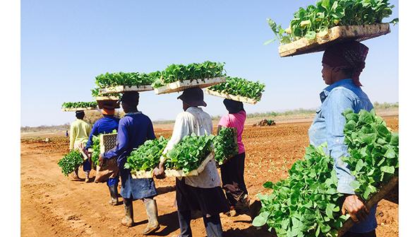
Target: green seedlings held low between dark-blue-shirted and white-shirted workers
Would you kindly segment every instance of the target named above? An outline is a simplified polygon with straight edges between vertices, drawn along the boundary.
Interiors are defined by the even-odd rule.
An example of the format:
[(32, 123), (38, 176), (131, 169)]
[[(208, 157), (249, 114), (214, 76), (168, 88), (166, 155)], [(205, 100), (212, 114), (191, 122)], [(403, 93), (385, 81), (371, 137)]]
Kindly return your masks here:
[(167, 146), (168, 141), (164, 137), (145, 141), (143, 145), (131, 151), (124, 168), (131, 169), (131, 172), (153, 170), (159, 165), (160, 156), (162, 156), (162, 151)]

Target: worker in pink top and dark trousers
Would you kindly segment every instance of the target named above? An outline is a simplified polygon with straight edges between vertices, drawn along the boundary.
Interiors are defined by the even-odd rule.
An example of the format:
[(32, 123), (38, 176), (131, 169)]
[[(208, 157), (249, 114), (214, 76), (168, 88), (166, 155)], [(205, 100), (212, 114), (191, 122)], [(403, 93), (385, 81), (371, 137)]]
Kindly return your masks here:
[(222, 184), (224, 190), (226, 190), (227, 200), (229, 201), (232, 212), (228, 212), (227, 214), (232, 214), (234, 216), (236, 215), (235, 209), (238, 211), (247, 211), (250, 202), (244, 180), (245, 147), (242, 142), (246, 112), (242, 102), (224, 99), (223, 104), (229, 113), (220, 118), (219, 125), (217, 126), (217, 134), (222, 127), (236, 128), (239, 150), (236, 156), (230, 158), (226, 163), (220, 166)]

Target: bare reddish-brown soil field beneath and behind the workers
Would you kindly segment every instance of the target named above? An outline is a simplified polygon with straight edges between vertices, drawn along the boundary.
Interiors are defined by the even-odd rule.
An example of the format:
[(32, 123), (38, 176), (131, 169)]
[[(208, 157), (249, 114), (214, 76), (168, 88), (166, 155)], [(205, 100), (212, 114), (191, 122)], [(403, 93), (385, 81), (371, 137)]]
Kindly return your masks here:
[[(383, 115), (388, 127), (398, 130), (398, 116)], [(287, 170), (304, 156), (308, 146), (309, 118), (280, 122), (272, 127), (253, 127), (247, 123), (243, 140), (246, 146), (245, 181), (251, 197), (265, 192), (263, 183), (287, 178)], [(296, 122), (299, 121), (299, 122)], [(277, 121), (276, 121), (277, 122)], [(172, 126), (157, 125), (155, 134), (169, 137)], [(48, 138), (49, 141), (46, 141)], [(147, 224), (141, 201), (133, 202), (135, 226), (121, 226), (124, 205), (110, 206), (104, 183), (84, 183), (61, 174), (57, 162), (68, 151), (63, 132), (23, 134), (20, 151), (21, 236), (142, 236)], [(84, 178), (83, 170), (79, 171)], [(91, 172), (91, 177), (95, 171)], [(176, 236), (178, 217), (174, 207), (174, 178), (155, 180), (159, 195), (160, 231), (154, 236)], [(392, 196), (392, 197), (391, 197)], [(398, 236), (398, 192), (378, 205), (377, 236)], [(121, 200), (121, 198), (120, 198)], [(396, 203), (394, 203), (396, 200)], [(246, 215), (221, 214), (224, 236), (272, 236), (258, 231)], [(194, 236), (205, 236), (202, 219), (191, 221)]]

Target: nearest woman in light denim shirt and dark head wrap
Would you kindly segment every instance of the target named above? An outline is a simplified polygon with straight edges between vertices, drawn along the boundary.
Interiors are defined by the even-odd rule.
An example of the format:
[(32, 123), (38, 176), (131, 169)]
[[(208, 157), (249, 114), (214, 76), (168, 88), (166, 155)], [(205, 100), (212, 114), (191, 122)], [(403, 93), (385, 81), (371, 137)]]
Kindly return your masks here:
[[(314, 146), (328, 142), (327, 154), (335, 160), (337, 191), (344, 194), (342, 213), (348, 212), (356, 224), (345, 236), (376, 236), (376, 206), (366, 209), (364, 202), (354, 193), (350, 185), (354, 176), (350, 173), (342, 156), (349, 156), (344, 144), (344, 124), (342, 112), (351, 108), (370, 111), (371, 101), (361, 90), (359, 76), (365, 67), (368, 47), (360, 42), (343, 42), (328, 47), (323, 54), (323, 80), (328, 86), (320, 93), (321, 105), (308, 130), (309, 140)], [(361, 235), (363, 234), (363, 235)]]

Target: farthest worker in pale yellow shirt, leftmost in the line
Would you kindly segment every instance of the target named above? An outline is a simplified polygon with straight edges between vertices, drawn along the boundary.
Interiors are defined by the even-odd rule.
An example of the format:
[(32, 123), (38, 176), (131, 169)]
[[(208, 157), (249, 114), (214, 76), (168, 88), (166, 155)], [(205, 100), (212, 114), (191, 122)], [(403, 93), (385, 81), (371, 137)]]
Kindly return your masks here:
[[(78, 147), (85, 146), (86, 142), (88, 141), (88, 137), (90, 134), (90, 124), (83, 121), (83, 117), (85, 117), (85, 112), (83, 110), (76, 111), (76, 121), (73, 121), (70, 125), (70, 151), (73, 149), (78, 149)], [(83, 162), (83, 171), (85, 171), (85, 182), (89, 181), (89, 173), (90, 173), (90, 161), (86, 160)], [(74, 175), (76, 178), (79, 178), (78, 175), (78, 168), (74, 170)]]

